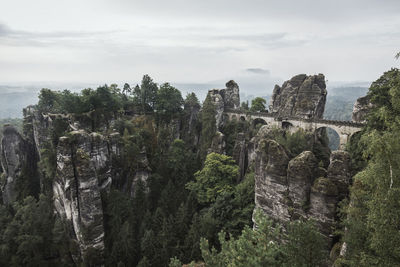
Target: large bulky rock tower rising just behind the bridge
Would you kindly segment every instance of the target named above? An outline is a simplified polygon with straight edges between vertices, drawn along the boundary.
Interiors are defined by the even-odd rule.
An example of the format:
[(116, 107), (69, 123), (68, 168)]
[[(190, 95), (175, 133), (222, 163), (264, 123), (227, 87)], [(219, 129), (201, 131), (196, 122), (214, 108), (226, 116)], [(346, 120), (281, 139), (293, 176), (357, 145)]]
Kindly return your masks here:
[(278, 117), (322, 119), (326, 94), (323, 74), (299, 74), (284, 82), (282, 86), (275, 85), (269, 109)]

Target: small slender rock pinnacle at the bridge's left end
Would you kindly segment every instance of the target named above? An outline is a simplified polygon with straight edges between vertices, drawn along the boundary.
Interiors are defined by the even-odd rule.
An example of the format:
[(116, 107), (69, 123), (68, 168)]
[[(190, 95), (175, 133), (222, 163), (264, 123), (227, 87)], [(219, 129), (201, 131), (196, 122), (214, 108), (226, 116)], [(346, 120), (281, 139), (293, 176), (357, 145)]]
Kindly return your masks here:
[(230, 80), (225, 89), (213, 89), (208, 91), (208, 96), (216, 110), (216, 126), (221, 129), (224, 124), (223, 112), (225, 109), (238, 109), (240, 107), (240, 96), (238, 84)]

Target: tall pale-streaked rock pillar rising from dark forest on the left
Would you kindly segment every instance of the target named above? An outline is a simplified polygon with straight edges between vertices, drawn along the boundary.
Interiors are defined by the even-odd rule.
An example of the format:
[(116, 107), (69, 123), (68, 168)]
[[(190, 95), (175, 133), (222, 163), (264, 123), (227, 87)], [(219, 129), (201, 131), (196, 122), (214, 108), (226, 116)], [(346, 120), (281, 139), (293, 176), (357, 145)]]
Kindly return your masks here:
[[(57, 213), (69, 224), (80, 254), (90, 248), (104, 252), (102, 184), (110, 183), (110, 157), (105, 138), (83, 130), (63, 136), (57, 146), (57, 172), (53, 182)], [(79, 259), (81, 255), (74, 255)]]

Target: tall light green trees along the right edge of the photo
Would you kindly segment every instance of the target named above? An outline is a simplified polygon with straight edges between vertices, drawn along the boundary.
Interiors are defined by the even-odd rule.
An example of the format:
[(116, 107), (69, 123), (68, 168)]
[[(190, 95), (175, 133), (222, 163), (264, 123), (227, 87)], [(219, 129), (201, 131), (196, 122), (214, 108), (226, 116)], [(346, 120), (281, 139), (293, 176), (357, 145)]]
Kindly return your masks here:
[(346, 266), (398, 266), (400, 71), (392, 69), (384, 73), (372, 83), (368, 95), (373, 108), (367, 118), (367, 127), (350, 144), (353, 157), (364, 161), (364, 164), (357, 161), (357, 166), (360, 169), (366, 167), (354, 177), (350, 203), (344, 208), (347, 252), (340, 263)]

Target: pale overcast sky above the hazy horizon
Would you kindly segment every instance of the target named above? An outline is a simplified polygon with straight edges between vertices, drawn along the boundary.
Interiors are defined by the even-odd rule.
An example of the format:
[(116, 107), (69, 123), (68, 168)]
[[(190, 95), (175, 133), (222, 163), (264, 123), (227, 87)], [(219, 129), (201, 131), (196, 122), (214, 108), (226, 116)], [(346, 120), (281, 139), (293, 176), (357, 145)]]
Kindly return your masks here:
[(265, 86), (399, 67), (399, 0), (1, 0), (0, 83)]

